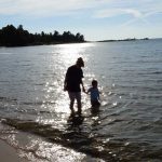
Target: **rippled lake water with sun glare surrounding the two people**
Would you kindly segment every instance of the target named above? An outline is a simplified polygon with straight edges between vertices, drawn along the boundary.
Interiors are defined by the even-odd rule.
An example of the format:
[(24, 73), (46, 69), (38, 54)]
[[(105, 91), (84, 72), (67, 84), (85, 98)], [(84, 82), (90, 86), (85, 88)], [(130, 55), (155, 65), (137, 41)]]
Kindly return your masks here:
[[(98, 80), (102, 106), (92, 112), (82, 94), (82, 117), (70, 118), (63, 83), (80, 56), (85, 87)], [(48, 144), (58, 144), (84, 154), (69, 161), (160, 162), (162, 40), (0, 48), (0, 138), (19, 150), (16, 131), (42, 137), (21, 144), (30, 160), (52, 161)]]

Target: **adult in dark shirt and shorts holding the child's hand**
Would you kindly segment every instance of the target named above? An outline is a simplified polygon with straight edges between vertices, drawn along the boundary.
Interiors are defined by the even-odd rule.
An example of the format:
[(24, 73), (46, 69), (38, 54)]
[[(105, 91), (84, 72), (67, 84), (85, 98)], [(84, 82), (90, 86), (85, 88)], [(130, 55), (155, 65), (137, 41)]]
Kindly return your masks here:
[(78, 106), (78, 113), (81, 114), (82, 111), (80, 84), (82, 85), (82, 91), (85, 92), (85, 90), (82, 81), (83, 71), (81, 67), (84, 67), (84, 62), (82, 57), (79, 57), (76, 64), (67, 69), (64, 81), (64, 91), (68, 91), (70, 98), (70, 110), (72, 114), (75, 113), (73, 105), (76, 99)]

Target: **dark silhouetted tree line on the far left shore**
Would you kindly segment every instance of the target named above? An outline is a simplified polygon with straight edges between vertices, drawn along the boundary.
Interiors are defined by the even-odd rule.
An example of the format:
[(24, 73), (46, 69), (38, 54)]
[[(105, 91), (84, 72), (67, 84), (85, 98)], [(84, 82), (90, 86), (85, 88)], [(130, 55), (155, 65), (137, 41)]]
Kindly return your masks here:
[(58, 31), (45, 33), (30, 33), (23, 29), (23, 25), (15, 28), (13, 25), (8, 25), (0, 29), (0, 46), (24, 46), (39, 44), (56, 44), (56, 43), (75, 43), (84, 42), (84, 36), (81, 33), (73, 35), (70, 31), (64, 31), (60, 35)]

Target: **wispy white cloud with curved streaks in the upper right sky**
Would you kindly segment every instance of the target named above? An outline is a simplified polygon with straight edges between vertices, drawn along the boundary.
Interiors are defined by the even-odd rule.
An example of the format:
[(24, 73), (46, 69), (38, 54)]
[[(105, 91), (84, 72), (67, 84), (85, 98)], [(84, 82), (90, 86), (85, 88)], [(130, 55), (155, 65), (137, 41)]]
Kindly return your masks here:
[[(120, 4), (119, 4), (119, 3)], [(143, 1), (130, 1), (119, 0), (113, 2), (111, 6), (107, 6), (107, 9), (102, 9), (95, 12), (94, 17), (96, 18), (106, 18), (106, 17), (114, 17), (114, 16), (122, 16), (122, 15), (131, 15), (127, 22), (123, 22), (120, 27), (126, 27), (131, 24), (136, 22), (143, 22), (144, 24), (151, 25), (148, 21), (148, 17), (152, 15), (160, 15), (162, 14), (162, 1), (161, 0), (143, 0)], [(117, 5), (119, 4), (119, 5)]]

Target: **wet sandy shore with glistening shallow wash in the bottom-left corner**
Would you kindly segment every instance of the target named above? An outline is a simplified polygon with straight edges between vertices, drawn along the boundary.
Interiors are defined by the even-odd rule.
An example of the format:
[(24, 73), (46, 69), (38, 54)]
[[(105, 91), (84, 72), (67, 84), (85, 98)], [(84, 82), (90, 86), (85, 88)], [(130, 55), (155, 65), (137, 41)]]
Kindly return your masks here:
[(0, 123), (0, 162), (103, 161)]

